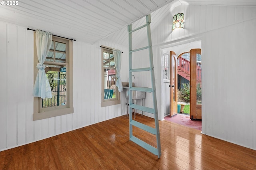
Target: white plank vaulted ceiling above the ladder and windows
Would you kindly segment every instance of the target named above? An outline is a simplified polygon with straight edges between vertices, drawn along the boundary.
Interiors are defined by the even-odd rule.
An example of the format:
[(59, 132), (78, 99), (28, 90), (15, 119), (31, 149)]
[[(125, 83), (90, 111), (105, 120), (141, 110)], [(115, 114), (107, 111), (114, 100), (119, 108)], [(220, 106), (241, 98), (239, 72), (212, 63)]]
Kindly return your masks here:
[[(256, 5), (256, 0), (22, 0), (18, 5), (2, 1), (0, 20), (94, 43), (170, 5)], [(175, 2), (175, 3), (174, 3)], [(167, 7), (166, 5), (169, 4)], [(164, 7), (165, 6), (165, 7)], [(161, 18), (164, 12), (154, 17)]]

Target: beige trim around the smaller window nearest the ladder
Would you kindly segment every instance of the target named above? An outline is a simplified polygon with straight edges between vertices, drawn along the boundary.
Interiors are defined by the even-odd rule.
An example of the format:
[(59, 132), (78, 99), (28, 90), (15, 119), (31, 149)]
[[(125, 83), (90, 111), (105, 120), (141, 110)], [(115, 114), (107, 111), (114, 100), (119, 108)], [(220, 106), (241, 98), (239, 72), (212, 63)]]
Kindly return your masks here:
[(112, 49), (111, 47), (106, 47), (104, 45), (101, 45), (101, 103), (100, 106), (101, 107), (106, 107), (106, 106), (112, 106), (112, 105), (118, 105), (121, 103), (120, 101), (120, 92), (118, 91), (118, 89), (116, 88), (116, 99), (104, 99), (104, 68), (103, 68), (103, 52), (104, 52), (104, 48), (106, 49)]

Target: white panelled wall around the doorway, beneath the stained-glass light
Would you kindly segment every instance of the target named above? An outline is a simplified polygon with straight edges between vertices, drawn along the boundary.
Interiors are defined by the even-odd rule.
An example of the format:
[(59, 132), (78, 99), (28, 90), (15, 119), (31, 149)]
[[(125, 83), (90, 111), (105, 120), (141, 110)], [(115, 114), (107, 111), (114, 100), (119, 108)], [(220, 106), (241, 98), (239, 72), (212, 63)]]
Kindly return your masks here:
[[(172, 32), (172, 16), (180, 12), (185, 14), (185, 28)], [(254, 6), (180, 5), (152, 30), (160, 119), (164, 90), (160, 50), (198, 40), (202, 41), (202, 133), (256, 150)], [(142, 86), (148, 82), (144, 77)], [(146, 103), (152, 105), (152, 100)]]

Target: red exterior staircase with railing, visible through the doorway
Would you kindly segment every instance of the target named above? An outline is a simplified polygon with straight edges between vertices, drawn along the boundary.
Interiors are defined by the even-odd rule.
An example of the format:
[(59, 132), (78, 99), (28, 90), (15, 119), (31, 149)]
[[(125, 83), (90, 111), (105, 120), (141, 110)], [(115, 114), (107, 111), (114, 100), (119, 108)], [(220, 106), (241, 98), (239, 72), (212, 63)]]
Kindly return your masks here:
[[(196, 83), (202, 82), (202, 68), (199, 65), (196, 65), (197, 72), (196, 72)], [(190, 61), (184, 59), (182, 57), (178, 58), (178, 75), (184, 77), (188, 81), (190, 81)]]

